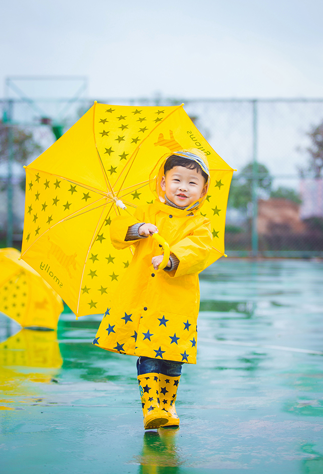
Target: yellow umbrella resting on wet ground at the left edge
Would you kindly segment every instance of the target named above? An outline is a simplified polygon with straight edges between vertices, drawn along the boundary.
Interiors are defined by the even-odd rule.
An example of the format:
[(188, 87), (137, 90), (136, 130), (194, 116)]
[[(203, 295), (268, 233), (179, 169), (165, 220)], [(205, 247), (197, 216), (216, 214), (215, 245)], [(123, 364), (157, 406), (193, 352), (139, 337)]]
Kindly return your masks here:
[(63, 303), (15, 248), (0, 249), (0, 311), (21, 326), (55, 329)]

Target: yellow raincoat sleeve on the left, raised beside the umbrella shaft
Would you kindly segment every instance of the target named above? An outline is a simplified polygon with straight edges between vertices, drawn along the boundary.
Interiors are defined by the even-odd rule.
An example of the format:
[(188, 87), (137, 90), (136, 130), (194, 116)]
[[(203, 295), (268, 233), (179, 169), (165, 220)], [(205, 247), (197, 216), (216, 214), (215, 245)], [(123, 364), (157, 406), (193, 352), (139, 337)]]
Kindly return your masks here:
[(127, 240), (125, 241), (128, 228), (137, 224), (138, 222), (144, 222), (143, 212), (140, 207), (137, 207), (134, 215), (118, 215), (115, 217), (110, 224), (110, 238), (112, 245), (119, 249), (130, 247), (130, 245), (138, 245), (141, 241), (138, 240)]

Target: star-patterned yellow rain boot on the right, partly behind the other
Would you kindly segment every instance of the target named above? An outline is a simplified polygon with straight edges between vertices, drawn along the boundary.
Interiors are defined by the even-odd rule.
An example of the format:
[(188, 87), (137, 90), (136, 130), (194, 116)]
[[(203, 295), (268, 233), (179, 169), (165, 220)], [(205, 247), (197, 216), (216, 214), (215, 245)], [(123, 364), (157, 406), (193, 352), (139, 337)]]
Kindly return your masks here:
[(180, 378), (180, 375), (171, 377), (163, 373), (159, 374), (160, 406), (162, 406), (162, 410), (166, 411), (169, 415), (168, 422), (163, 424), (163, 427), (179, 425), (179, 416), (176, 413), (175, 400)]

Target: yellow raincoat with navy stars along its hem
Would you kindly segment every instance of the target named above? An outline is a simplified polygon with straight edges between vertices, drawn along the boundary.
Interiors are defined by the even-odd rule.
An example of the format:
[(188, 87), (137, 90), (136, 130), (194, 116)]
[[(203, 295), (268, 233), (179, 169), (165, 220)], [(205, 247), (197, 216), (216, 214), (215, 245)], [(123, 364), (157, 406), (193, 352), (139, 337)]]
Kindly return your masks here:
[[(163, 168), (164, 163), (159, 174)], [(156, 183), (158, 199), (137, 207), (134, 216), (111, 222), (115, 248), (132, 245), (134, 255), (93, 343), (113, 352), (196, 363), (198, 274), (208, 265), (212, 248), (210, 221), (200, 212), (204, 199), (193, 211), (178, 209), (161, 202), (160, 178)], [(153, 238), (125, 241), (128, 227), (137, 222), (157, 226), (179, 259), (177, 269), (154, 270), (151, 258), (162, 252)]]

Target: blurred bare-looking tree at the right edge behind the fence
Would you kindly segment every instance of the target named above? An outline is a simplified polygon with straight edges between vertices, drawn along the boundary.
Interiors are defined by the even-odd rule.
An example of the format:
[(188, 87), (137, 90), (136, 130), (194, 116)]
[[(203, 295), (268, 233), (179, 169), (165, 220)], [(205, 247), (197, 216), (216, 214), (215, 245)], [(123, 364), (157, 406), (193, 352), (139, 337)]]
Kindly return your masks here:
[(308, 166), (300, 167), (299, 171), (301, 177), (321, 178), (323, 170), (323, 121), (319, 125), (313, 126), (307, 135), (312, 141), (311, 146), (306, 148), (310, 155)]

